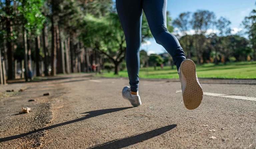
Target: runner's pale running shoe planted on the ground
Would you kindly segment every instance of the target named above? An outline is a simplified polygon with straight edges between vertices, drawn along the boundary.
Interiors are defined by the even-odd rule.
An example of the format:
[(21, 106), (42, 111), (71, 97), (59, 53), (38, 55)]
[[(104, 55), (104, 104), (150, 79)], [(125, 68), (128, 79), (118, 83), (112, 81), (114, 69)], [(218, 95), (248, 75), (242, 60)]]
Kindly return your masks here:
[(131, 88), (129, 86), (125, 86), (122, 91), (123, 98), (129, 100), (133, 106), (141, 105), (140, 96), (132, 95)]

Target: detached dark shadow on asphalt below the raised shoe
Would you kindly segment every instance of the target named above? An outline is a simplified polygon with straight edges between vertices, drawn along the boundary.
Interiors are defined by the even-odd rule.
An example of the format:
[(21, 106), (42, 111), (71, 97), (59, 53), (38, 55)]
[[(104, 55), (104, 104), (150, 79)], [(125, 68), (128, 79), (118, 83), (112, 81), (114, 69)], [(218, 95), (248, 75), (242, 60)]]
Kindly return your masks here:
[(148, 131), (142, 134), (138, 134), (138, 135), (134, 135), (131, 137), (127, 137), (127, 138), (123, 138), (123, 139), (117, 139), (117, 140), (113, 140), (113, 141), (109, 141), (107, 143), (104, 144), (100, 144), (100, 145), (96, 145), (96, 146), (92, 146), (88, 149), (120, 149), (123, 147), (127, 147), (148, 139), (151, 139), (153, 137), (159, 136), (173, 128), (175, 128), (177, 125), (173, 124), (173, 125), (168, 125), (168, 126), (164, 126), (152, 131)]

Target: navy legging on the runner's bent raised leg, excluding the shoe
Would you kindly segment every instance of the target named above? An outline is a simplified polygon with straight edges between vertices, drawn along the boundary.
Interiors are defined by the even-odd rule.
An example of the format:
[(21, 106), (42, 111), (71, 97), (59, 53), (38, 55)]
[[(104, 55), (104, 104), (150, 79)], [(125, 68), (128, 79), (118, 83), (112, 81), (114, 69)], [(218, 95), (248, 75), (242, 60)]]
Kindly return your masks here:
[(167, 0), (143, 0), (142, 8), (146, 14), (148, 24), (156, 42), (162, 45), (172, 56), (177, 70), (186, 59), (177, 38), (168, 32), (166, 27)]

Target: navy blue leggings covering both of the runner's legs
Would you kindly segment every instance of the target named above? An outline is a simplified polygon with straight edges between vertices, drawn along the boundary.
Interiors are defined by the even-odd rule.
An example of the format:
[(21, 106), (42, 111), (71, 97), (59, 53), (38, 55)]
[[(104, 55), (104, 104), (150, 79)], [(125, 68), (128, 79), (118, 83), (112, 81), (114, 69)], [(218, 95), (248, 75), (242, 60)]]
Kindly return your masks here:
[(125, 34), (126, 67), (133, 92), (137, 92), (139, 86), (142, 10), (153, 37), (172, 56), (177, 69), (186, 59), (179, 41), (166, 28), (166, 6), (167, 0), (116, 0), (118, 16)]

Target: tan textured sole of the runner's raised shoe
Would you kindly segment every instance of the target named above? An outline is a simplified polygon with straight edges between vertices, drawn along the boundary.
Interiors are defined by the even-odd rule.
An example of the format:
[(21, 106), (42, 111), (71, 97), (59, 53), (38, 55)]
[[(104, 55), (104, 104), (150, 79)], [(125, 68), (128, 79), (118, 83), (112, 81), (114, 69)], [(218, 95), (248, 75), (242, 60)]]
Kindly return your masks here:
[(185, 60), (180, 65), (186, 87), (182, 94), (185, 107), (189, 110), (196, 109), (203, 99), (203, 89), (196, 80), (196, 65), (192, 60)]

